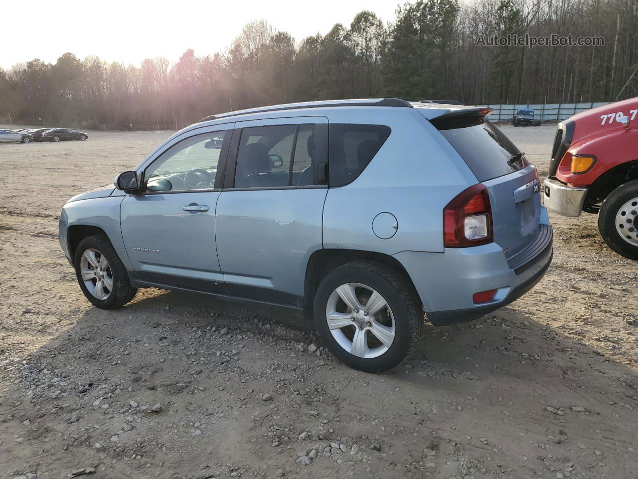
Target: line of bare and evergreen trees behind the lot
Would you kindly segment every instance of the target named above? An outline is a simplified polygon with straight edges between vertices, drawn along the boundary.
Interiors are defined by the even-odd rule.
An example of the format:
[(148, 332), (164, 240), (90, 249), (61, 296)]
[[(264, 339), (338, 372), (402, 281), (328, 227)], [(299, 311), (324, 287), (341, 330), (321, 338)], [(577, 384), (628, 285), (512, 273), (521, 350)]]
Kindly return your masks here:
[[(598, 36), (604, 45), (486, 45), (512, 35)], [(466, 104), (614, 101), (638, 89), (638, 0), (419, 0), (384, 23), (361, 11), (349, 26), (300, 42), (265, 20), (223, 52), (141, 65), (33, 59), (0, 69), (0, 116), (89, 128), (179, 128), (228, 110), (306, 100), (454, 99)]]

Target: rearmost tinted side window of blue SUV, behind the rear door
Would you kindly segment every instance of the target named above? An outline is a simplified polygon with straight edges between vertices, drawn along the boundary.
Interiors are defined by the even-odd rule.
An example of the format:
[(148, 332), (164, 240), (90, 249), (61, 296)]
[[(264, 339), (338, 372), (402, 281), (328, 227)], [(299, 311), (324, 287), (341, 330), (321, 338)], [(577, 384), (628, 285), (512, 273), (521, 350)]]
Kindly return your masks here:
[(390, 131), (385, 125), (330, 123), (330, 186), (347, 185), (357, 179), (388, 139)]

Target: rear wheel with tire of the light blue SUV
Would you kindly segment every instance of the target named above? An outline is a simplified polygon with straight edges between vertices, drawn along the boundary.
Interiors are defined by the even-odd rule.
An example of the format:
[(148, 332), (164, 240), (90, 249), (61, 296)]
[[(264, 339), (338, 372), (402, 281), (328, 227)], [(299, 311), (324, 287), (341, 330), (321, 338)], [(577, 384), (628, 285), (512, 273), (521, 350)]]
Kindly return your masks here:
[(355, 261), (323, 278), (314, 303), (316, 330), (342, 363), (364, 372), (392, 369), (419, 342), (419, 301), (397, 273)]

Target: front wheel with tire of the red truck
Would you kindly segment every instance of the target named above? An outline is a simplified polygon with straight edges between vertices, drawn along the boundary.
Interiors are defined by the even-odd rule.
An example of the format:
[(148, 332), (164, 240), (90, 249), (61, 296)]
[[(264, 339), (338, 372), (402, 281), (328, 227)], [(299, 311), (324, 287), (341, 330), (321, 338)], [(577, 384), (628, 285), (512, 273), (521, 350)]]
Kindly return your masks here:
[(605, 198), (598, 231), (616, 253), (638, 259), (638, 179), (618, 186)]

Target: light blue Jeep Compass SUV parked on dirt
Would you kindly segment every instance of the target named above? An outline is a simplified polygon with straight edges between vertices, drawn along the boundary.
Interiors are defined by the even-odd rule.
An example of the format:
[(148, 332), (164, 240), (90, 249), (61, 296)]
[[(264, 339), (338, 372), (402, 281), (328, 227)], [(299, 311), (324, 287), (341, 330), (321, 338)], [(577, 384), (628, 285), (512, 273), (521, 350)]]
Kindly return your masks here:
[(364, 371), (424, 323), (516, 300), (551, 262), (536, 169), (490, 110), (341, 100), (214, 115), (71, 198), (59, 239), (91, 303), (137, 288), (303, 310)]

